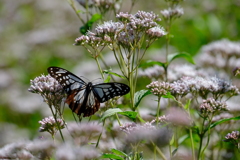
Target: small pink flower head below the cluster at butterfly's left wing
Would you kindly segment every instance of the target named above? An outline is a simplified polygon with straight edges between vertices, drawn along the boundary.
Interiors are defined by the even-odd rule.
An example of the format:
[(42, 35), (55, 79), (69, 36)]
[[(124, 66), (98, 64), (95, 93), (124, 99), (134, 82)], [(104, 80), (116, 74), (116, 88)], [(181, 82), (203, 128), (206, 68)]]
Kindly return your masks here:
[(53, 117), (46, 117), (39, 121), (41, 127), (39, 128), (39, 132), (49, 132), (52, 136), (57, 133), (59, 129), (65, 128), (65, 123), (62, 119), (57, 119), (57, 122)]

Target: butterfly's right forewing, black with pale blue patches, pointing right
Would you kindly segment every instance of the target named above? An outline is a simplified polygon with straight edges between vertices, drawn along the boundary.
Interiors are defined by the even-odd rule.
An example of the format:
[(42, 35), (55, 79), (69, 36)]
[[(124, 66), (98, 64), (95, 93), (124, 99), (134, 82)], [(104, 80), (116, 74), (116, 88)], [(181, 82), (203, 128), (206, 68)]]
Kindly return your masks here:
[(100, 83), (93, 85), (92, 91), (100, 103), (106, 102), (116, 96), (122, 96), (130, 91), (128, 85), (123, 83)]

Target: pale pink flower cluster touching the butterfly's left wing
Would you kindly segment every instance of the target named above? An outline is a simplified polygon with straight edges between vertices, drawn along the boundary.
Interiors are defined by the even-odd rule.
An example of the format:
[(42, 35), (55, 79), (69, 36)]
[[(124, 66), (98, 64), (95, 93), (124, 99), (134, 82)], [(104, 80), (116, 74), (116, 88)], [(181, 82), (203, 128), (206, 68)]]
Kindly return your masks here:
[(48, 104), (58, 106), (65, 98), (63, 87), (50, 75), (36, 77), (30, 83), (28, 91), (40, 94)]

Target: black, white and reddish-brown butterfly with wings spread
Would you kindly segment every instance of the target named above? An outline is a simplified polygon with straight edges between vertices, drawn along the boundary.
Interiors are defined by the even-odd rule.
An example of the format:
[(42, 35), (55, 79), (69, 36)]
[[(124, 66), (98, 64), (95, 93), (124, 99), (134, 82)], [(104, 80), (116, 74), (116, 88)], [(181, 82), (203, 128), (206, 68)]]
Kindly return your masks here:
[(55, 78), (67, 93), (66, 103), (77, 115), (88, 117), (99, 110), (100, 103), (130, 91), (128, 85), (117, 82), (86, 83), (78, 76), (60, 67), (49, 67), (48, 73)]

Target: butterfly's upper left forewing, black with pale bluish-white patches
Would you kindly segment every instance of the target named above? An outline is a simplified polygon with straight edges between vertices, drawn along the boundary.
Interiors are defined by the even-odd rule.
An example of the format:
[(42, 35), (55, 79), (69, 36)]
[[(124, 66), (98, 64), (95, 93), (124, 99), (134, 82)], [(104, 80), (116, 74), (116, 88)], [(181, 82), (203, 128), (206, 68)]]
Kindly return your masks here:
[(87, 85), (81, 78), (60, 67), (49, 67), (48, 73), (63, 86), (67, 94), (71, 94), (76, 89), (85, 88)]

